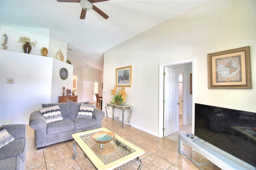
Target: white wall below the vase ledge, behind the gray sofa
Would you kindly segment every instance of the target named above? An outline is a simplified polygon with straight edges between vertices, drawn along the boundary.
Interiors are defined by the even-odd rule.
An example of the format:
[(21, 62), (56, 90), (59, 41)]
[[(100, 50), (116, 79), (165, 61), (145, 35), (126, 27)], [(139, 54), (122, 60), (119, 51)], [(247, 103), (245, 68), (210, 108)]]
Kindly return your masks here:
[[(42, 103), (57, 103), (62, 87), (72, 88), (72, 76), (62, 80), (60, 68), (73, 66), (51, 57), (1, 50), (0, 120), (28, 124)], [(6, 83), (13, 78), (14, 84)]]

